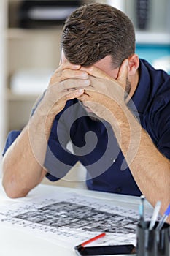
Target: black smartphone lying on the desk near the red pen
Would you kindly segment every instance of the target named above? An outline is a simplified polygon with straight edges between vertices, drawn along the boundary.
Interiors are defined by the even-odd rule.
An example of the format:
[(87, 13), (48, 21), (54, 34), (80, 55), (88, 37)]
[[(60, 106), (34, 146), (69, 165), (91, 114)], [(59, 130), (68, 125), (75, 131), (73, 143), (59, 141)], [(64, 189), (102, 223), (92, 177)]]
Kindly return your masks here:
[(101, 256), (101, 255), (136, 255), (136, 247), (133, 244), (112, 245), (112, 246), (77, 246), (74, 248), (80, 256)]

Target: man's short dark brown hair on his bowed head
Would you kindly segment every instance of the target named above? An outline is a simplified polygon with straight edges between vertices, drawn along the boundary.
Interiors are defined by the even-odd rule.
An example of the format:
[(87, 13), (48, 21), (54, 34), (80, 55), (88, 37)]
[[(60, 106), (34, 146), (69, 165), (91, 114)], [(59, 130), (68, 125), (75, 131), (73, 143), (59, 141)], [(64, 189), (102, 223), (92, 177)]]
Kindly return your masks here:
[(88, 67), (112, 56), (113, 67), (135, 50), (135, 32), (131, 20), (107, 4), (85, 4), (66, 19), (61, 48), (72, 64)]

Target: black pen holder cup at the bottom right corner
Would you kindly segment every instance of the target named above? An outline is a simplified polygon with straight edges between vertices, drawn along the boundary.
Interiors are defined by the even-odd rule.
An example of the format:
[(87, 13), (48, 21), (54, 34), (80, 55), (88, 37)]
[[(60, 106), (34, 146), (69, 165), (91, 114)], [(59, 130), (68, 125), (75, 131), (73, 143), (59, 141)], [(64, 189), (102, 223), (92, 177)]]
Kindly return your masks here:
[(161, 230), (149, 230), (149, 226), (150, 222), (137, 225), (137, 256), (169, 256), (170, 225), (164, 223)]

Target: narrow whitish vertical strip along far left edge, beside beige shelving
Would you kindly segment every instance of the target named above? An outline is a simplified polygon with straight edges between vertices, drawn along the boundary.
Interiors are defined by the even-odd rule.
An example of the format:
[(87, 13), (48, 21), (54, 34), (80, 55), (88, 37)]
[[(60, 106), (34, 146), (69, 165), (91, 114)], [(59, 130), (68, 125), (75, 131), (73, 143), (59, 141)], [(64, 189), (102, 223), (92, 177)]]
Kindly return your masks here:
[(1, 154), (4, 148), (5, 138), (5, 73), (6, 73), (6, 44), (5, 29), (7, 25), (7, 0), (0, 1), (0, 176)]

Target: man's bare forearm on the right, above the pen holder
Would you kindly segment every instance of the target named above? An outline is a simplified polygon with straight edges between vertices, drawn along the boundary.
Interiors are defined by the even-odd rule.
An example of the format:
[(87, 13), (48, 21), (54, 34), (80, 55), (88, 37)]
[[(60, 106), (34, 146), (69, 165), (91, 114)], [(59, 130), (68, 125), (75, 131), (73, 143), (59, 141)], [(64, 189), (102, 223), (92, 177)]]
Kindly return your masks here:
[(161, 200), (161, 214), (170, 203), (170, 162), (157, 148), (150, 136), (125, 107), (114, 110), (118, 126), (110, 121), (128, 167), (152, 206)]

